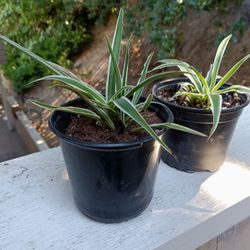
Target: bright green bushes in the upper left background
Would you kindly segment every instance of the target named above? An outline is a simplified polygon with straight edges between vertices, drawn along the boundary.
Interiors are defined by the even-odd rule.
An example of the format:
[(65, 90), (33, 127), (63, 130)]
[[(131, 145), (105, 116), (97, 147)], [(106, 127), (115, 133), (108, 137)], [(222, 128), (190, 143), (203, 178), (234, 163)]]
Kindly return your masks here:
[[(116, 2), (0, 0), (0, 32), (49, 61), (70, 67), (79, 48), (91, 41), (93, 24), (104, 22)], [(31, 63), (15, 48), (6, 49), (8, 62), (3, 70), (17, 92), (23, 92), (30, 87), (28, 82), (47, 73), (46, 68)]]

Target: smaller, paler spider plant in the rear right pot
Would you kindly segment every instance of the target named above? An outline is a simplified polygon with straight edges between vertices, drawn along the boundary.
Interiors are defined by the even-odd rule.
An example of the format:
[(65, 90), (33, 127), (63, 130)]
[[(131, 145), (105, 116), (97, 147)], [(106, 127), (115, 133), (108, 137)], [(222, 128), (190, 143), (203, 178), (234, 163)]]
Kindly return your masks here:
[(200, 103), (201, 107), (212, 111), (213, 126), (210, 130), (208, 139), (214, 134), (219, 124), (222, 110), (222, 95), (229, 92), (250, 93), (250, 88), (245, 86), (225, 85), (241, 65), (250, 58), (250, 54), (240, 59), (223, 77), (218, 75), (222, 58), (231, 37), (232, 35), (227, 36), (220, 43), (214, 62), (210, 65), (210, 69), (206, 76), (203, 76), (202, 73), (188, 63), (175, 59), (160, 60), (160, 65), (153, 69), (153, 71), (155, 71), (168, 67), (178, 67), (190, 80), (190, 83), (180, 83), (181, 87), (176, 93), (176, 96), (186, 96), (187, 102), (195, 100), (196, 103)]

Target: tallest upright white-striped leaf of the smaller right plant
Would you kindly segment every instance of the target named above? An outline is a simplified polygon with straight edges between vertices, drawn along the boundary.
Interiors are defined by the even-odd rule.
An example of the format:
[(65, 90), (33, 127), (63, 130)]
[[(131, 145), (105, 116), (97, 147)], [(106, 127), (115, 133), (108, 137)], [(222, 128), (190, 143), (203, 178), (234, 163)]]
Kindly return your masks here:
[(210, 89), (213, 89), (213, 87), (216, 84), (216, 79), (217, 79), (217, 75), (218, 75), (219, 68), (221, 65), (221, 61), (222, 61), (223, 55), (225, 53), (226, 47), (227, 47), (231, 37), (232, 37), (232, 35), (229, 35), (226, 38), (224, 38), (216, 51), (214, 62), (212, 64), (213, 66), (212, 66), (212, 69), (211, 69), (210, 74), (208, 76), (208, 78), (210, 79), (210, 82), (208, 82)]

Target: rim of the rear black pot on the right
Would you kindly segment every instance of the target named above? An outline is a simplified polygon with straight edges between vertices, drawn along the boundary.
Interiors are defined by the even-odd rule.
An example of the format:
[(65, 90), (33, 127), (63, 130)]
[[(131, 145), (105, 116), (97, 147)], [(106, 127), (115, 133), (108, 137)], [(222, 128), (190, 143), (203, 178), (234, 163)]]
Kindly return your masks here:
[[(211, 110), (183, 107), (183, 106), (176, 105), (176, 104), (168, 102), (168, 101), (164, 101), (157, 96), (156, 92), (158, 90), (160, 90), (161, 88), (165, 88), (167, 85), (168, 86), (177, 85), (180, 81), (189, 81), (190, 82), (190, 80), (186, 77), (177, 77), (177, 78), (171, 78), (171, 79), (166, 79), (163, 81), (156, 82), (152, 88), (152, 93), (153, 93), (154, 98), (158, 102), (167, 104), (168, 106), (173, 107), (173, 108), (180, 110), (180, 111), (200, 113), (200, 114), (212, 114)], [(227, 83), (227, 85), (232, 85), (232, 84)], [(237, 112), (237, 111), (241, 110), (242, 108), (246, 107), (250, 102), (250, 95), (245, 94), (245, 93), (241, 94), (241, 95), (245, 96), (244, 103), (240, 104), (239, 106), (233, 107), (233, 108), (222, 109), (221, 113), (233, 113), (233, 112)]]

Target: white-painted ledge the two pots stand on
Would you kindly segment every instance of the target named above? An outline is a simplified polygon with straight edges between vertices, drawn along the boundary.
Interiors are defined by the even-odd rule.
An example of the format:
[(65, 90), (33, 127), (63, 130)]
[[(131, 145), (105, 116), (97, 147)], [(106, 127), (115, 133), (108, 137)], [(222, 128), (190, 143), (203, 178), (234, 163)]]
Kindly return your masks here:
[(148, 209), (120, 224), (77, 210), (59, 148), (0, 163), (0, 249), (195, 249), (249, 218), (249, 148), (250, 107), (219, 171), (161, 163)]

